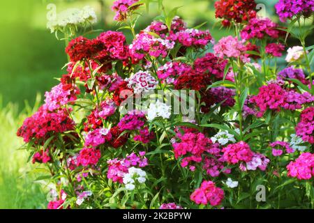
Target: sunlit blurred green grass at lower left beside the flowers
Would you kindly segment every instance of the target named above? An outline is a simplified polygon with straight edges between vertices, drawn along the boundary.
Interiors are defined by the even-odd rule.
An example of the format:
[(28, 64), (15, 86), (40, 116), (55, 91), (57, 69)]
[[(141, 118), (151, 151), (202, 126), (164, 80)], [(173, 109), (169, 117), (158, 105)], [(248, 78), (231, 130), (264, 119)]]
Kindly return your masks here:
[(15, 104), (3, 107), (0, 100), (0, 209), (45, 208), (47, 203), (40, 185), (34, 183), (36, 174), (27, 163), (27, 151), (17, 150), (23, 141), (16, 131), (32, 109), (18, 112)]

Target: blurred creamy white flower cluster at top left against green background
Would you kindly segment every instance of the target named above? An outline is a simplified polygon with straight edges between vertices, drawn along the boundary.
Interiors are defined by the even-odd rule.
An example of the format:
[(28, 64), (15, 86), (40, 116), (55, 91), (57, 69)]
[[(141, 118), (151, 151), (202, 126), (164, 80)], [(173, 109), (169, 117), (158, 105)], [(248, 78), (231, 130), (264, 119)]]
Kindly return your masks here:
[(86, 26), (97, 22), (96, 13), (90, 6), (85, 6), (82, 9), (69, 8), (62, 11), (56, 16), (50, 18), (47, 22), (47, 28), (52, 33), (66, 26)]

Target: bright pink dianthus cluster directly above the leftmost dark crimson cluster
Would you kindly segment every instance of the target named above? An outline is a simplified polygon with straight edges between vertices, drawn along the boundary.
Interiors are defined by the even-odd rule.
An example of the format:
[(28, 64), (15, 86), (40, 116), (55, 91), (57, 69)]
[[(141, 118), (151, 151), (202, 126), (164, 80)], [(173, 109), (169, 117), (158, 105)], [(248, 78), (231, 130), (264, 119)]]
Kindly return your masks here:
[(64, 90), (63, 84), (54, 86), (50, 92), (45, 93), (45, 105), (44, 109), (53, 112), (63, 105), (67, 105), (69, 102), (74, 102), (77, 96), (80, 94), (80, 89), (73, 86), (72, 89)]

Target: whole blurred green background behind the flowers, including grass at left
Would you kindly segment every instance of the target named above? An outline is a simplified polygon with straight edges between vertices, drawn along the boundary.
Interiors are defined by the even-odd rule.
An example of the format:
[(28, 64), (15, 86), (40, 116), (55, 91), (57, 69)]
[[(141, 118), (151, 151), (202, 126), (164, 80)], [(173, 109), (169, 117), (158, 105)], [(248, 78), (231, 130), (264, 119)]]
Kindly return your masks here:
[[(57, 84), (66, 61), (64, 41), (57, 40), (46, 28), (47, 5), (55, 3), (57, 13), (67, 8), (91, 6), (96, 10), (98, 24), (94, 29), (114, 30), (114, 0), (10, 0), (1, 1), (0, 7), (0, 208), (45, 208), (47, 190), (36, 179), (37, 173), (27, 164), (25, 151), (18, 151), (22, 141), (15, 137), (24, 118), (38, 107), (43, 99), (36, 97)], [(278, 22), (274, 15), (276, 0), (261, 0), (268, 17)], [(203, 22), (218, 40), (228, 31), (215, 24), (214, 0), (164, 0), (167, 10), (176, 6), (179, 16), (193, 27)], [(143, 10), (137, 29), (144, 29), (158, 15), (157, 5), (149, 13)], [(125, 31), (126, 36), (130, 36)], [(95, 33), (98, 35), (99, 33)], [(130, 38), (128, 38), (130, 42)], [(297, 43), (296, 43), (297, 44)], [(37, 102), (37, 104), (36, 104)], [(33, 183), (36, 180), (36, 183)], [(39, 182), (39, 183), (38, 183)]]

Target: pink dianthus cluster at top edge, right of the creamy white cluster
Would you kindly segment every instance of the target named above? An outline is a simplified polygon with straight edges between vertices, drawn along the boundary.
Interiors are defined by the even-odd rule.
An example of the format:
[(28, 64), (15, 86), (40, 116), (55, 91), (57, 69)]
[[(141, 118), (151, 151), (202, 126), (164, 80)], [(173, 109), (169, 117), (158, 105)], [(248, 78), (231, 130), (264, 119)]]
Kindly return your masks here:
[[(114, 1), (112, 5), (112, 10), (116, 12), (114, 20), (124, 21), (127, 18), (128, 13), (131, 13), (133, 10), (136, 10), (139, 5), (133, 6), (134, 3), (137, 3), (139, 0), (117, 0)], [(130, 7), (133, 6), (133, 7)]]

